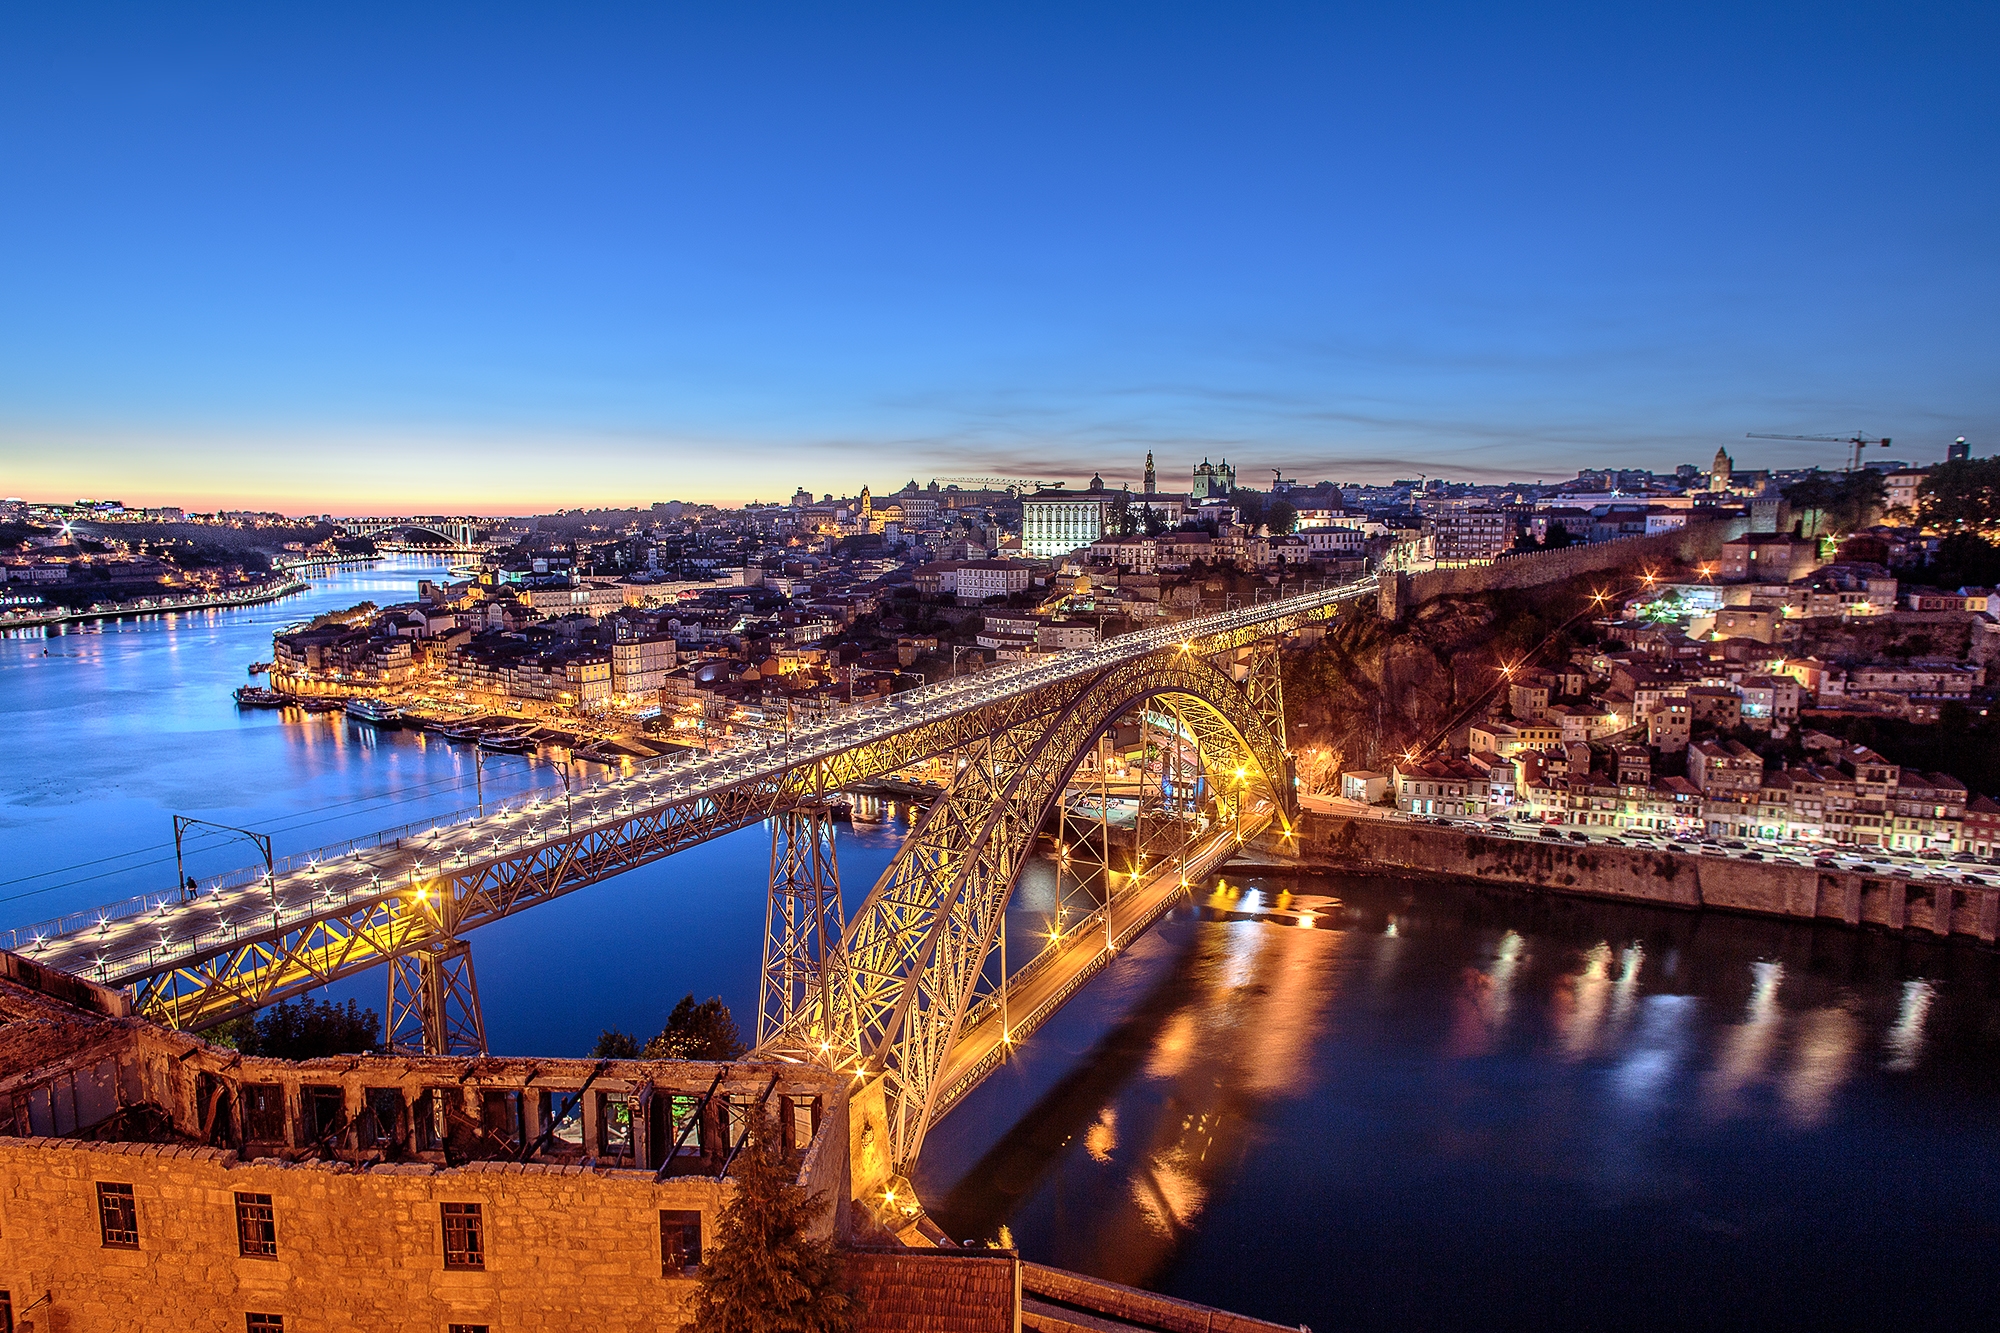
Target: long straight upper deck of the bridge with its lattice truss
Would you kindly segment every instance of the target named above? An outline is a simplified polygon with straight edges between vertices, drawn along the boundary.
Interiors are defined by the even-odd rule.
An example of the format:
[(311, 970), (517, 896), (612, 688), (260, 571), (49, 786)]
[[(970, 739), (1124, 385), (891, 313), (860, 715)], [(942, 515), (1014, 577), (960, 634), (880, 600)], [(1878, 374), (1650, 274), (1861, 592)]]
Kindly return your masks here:
[[(438, 939), (440, 923), (476, 929), (824, 793), (942, 755), (976, 755), (990, 737), (1046, 727), (1104, 673), (1162, 654), (1206, 658), (1254, 644), (1338, 614), (1372, 588), (1350, 584), (938, 683), (800, 729), (782, 745), (652, 765), (586, 789), (572, 803), (574, 821), (554, 803), (538, 821), (522, 813), (450, 821), (432, 837), (396, 839), (394, 847), (378, 841), (324, 867), (282, 871), (254, 893), (162, 903), (158, 913), (116, 915), (94, 931), (64, 925), (26, 953), (130, 985), (152, 1019), (210, 1027), (408, 953)], [(1282, 737), (1272, 749), (1282, 767)], [(1274, 789), (1288, 801), (1286, 783), (1274, 781)], [(446, 911), (424, 911), (420, 893)]]

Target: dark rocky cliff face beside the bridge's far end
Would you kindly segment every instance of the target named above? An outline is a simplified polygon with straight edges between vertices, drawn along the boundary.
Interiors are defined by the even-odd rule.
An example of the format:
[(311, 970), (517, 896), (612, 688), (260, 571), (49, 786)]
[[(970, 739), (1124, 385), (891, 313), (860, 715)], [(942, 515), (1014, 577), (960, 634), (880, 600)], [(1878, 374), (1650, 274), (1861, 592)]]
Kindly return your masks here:
[[(1352, 608), (1318, 644), (1286, 654), (1284, 711), (1296, 749), (1336, 755), (1334, 771), (1388, 771), (1424, 745), (1582, 606), (1572, 586), (1438, 596), (1400, 624)], [(1564, 662), (1566, 642), (1536, 660)], [(1506, 703), (1500, 699), (1498, 703)]]

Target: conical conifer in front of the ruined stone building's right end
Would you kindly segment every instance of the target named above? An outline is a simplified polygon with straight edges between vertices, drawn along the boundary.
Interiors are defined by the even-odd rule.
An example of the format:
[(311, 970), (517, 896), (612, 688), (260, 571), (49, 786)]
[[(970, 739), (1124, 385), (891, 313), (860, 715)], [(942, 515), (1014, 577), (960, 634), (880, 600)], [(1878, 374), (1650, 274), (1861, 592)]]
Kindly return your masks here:
[(840, 1251), (810, 1235), (824, 1205), (790, 1175), (764, 1127), (754, 1129), (704, 1255), (694, 1333), (852, 1333), (856, 1307)]

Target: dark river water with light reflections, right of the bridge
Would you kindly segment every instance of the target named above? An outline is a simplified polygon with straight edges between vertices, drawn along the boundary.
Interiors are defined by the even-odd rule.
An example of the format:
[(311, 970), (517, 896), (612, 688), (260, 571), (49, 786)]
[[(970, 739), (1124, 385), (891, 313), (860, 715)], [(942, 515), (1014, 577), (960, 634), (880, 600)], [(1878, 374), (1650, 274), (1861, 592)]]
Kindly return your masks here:
[[(1836, 1295), (1884, 1271), (1970, 1299), (2000, 1203), (1946, 1241), (1926, 1219), (2000, 1173), (1992, 951), (1358, 877), (1196, 903), (932, 1131), (948, 1231), (1314, 1327), (1518, 1323), (1482, 1289), (1886, 1323), (1914, 1283)], [(1804, 1225), (1842, 1211), (1868, 1237)]]

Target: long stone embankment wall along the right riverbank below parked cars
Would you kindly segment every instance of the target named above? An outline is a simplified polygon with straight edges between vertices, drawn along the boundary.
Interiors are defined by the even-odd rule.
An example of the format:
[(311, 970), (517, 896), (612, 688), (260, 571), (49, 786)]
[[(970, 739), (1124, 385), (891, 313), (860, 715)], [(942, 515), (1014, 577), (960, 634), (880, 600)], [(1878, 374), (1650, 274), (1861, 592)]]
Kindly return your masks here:
[(1988, 945), (2000, 933), (2000, 887), (1604, 843), (1530, 841), (1316, 811), (1300, 817), (1298, 859), (1302, 865), (1340, 871), (1414, 871), (1660, 907), (1716, 907), (1760, 917), (1966, 935)]

